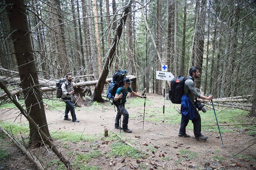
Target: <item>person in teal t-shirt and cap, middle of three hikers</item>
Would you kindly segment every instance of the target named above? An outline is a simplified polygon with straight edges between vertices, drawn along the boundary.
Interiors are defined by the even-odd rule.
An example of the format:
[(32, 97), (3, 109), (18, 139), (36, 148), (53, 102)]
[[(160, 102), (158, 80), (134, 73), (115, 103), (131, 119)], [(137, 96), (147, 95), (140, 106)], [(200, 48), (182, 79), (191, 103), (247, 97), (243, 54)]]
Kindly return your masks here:
[[(132, 91), (130, 85), (132, 81), (129, 78), (124, 78), (123, 80), (123, 86), (121, 85), (119, 88), (117, 88), (117, 92), (115, 93), (114, 97), (114, 103), (117, 107), (117, 116), (115, 117), (115, 128), (124, 130), (124, 132), (132, 133), (132, 130), (128, 128), (128, 119), (129, 119), (129, 113), (125, 109), (125, 102), (128, 92), (130, 92), (133, 96), (140, 97), (140, 98), (146, 98), (146, 96), (141, 96), (138, 93), (135, 93)], [(122, 99), (122, 105), (120, 104)], [(122, 109), (122, 115), (123, 117), (123, 125), (120, 127), (119, 120), (121, 118), (121, 112)]]

